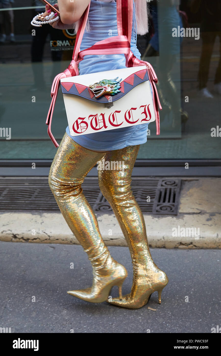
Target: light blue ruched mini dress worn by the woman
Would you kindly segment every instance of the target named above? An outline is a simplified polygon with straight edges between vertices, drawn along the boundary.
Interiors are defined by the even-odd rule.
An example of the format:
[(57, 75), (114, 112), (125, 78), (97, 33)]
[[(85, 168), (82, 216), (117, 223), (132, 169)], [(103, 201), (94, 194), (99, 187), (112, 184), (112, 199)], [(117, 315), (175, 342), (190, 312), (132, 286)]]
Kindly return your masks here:
[[(114, 1), (90, 1), (88, 14), (90, 32), (84, 32), (81, 42), (81, 51), (91, 47), (95, 42), (118, 35), (116, 5)], [(136, 42), (137, 28), (135, 6), (133, 4), (131, 51), (140, 59), (140, 52), (137, 49)], [(79, 75), (121, 68), (126, 68), (124, 54), (87, 55), (79, 63)], [(88, 133), (87, 135), (71, 136), (69, 127), (67, 126), (66, 128), (68, 136), (79, 145), (92, 151), (112, 151), (127, 146), (140, 145), (147, 142), (147, 130), (148, 124), (141, 124), (114, 130)]]

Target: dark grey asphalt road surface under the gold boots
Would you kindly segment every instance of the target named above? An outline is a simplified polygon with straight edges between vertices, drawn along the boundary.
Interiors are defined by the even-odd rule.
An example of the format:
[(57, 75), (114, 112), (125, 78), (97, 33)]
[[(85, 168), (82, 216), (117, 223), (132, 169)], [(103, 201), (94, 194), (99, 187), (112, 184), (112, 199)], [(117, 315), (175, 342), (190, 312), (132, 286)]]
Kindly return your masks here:
[[(109, 249), (128, 270), (123, 294), (129, 293), (129, 250)], [(151, 254), (169, 278), (162, 304), (155, 292), (147, 305), (132, 310), (87, 303), (66, 293), (92, 283), (81, 246), (0, 242), (0, 327), (11, 333), (211, 333), (221, 327), (221, 251), (155, 248)], [(111, 296), (118, 296), (117, 287)]]

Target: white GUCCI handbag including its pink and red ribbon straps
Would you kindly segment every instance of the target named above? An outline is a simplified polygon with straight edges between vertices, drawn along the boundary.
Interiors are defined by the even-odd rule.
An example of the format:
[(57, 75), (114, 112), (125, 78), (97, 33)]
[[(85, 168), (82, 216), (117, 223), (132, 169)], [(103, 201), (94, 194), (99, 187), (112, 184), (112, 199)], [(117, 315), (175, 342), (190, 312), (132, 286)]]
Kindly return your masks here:
[[(89, 7), (90, 4), (77, 32), (72, 61), (63, 73), (55, 77), (52, 85), (52, 101), (46, 120), (51, 140), (55, 147), (59, 147), (51, 133), (51, 119), (60, 84), (72, 136), (152, 121), (156, 121), (156, 134), (159, 135), (158, 104), (160, 110), (162, 108), (156, 89), (156, 74), (150, 63), (136, 58), (130, 49), (133, 0), (117, 0), (118, 36), (80, 51)], [(126, 22), (125, 13), (128, 14)], [(125, 54), (126, 68), (79, 75), (78, 64), (85, 55), (115, 53)]]

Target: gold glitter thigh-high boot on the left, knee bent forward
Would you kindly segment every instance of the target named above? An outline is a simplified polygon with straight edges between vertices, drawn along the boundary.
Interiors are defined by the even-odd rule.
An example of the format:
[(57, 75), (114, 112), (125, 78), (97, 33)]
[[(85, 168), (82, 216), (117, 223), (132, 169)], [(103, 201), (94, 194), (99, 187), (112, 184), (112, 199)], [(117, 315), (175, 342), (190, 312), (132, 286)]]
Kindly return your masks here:
[(127, 277), (125, 267), (110, 255), (98, 228), (96, 216), (81, 184), (104, 152), (87, 150), (65, 133), (50, 168), (49, 185), (68, 226), (87, 252), (93, 267), (93, 285), (67, 293), (91, 303), (104, 302), (112, 286), (119, 288)]

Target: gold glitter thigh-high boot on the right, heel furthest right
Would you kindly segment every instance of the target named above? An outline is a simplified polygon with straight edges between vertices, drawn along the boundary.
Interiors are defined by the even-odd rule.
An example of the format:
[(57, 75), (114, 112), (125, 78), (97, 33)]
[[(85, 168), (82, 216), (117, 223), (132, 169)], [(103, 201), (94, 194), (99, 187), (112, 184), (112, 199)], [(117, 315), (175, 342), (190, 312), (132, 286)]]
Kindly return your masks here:
[[(103, 160), (110, 162), (112, 168), (118, 164), (119, 169), (98, 171), (100, 189), (121, 226), (133, 264), (131, 293), (124, 295), (122, 300), (114, 298), (109, 302), (131, 309), (143, 307), (155, 291), (161, 303), (162, 289), (168, 283), (166, 273), (155, 265), (150, 255), (143, 214), (131, 190), (131, 174), (138, 151), (139, 145), (106, 152)], [(100, 164), (103, 166), (108, 164)]]

